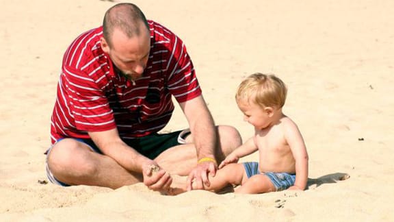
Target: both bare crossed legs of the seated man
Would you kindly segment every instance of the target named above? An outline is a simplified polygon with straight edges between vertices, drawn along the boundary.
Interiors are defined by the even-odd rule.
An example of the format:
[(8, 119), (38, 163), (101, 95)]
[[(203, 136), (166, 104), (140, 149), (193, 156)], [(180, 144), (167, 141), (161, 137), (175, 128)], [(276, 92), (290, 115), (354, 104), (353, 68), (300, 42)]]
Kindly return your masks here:
[[(233, 127), (218, 127), (220, 147), (216, 155), (218, 162), (241, 145), (241, 137)], [(192, 135), (187, 136), (186, 145), (179, 145), (161, 153), (155, 160), (164, 170), (176, 175), (188, 175), (196, 166), (196, 149)], [(57, 180), (70, 185), (121, 186), (142, 182), (142, 175), (121, 167), (108, 156), (95, 153), (88, 145), (66, 138), (56, 143), (48, 155), (49, 169)], [(181, 166), (181, 167), (180, 167)]]

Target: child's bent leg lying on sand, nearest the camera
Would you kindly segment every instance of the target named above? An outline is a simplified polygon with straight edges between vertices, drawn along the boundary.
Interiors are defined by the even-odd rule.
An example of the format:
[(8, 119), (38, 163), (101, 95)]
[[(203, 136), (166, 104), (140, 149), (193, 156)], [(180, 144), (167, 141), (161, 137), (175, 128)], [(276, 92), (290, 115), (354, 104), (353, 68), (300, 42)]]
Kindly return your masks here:
[(235, 190), (235, 193), (268, 193), (275, 190), (276, 188), (270, 177), (264, 174), (257, 174), (246, 180), (242, 186)]

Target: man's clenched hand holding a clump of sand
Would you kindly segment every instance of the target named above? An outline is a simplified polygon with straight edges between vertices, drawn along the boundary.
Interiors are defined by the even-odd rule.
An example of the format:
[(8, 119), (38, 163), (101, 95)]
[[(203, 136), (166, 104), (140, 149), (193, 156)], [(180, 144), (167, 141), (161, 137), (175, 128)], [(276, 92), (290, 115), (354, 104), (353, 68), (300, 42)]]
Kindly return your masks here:
[(154, 161), (147, 162), (143, 165), (142, 175), (144, 177), (144, 184), (148, 186), (150, 190), (166, 192), (172, 183), (170, 173), (161, 169)]

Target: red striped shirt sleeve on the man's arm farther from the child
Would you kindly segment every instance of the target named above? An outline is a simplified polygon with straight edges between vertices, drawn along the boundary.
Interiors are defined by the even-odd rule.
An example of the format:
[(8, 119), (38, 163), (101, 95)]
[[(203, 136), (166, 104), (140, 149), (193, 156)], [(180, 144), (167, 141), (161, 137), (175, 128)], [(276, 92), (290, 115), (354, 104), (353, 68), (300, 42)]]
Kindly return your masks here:
[[(87, 132), (111, 130), (116, 127), (103, 86), (94, 79), (92, 71), (80, 71), (63, 66), (68, 106), (75, 119), (75, 127)], [(94, 77), (92, 77), (94, 76)]]

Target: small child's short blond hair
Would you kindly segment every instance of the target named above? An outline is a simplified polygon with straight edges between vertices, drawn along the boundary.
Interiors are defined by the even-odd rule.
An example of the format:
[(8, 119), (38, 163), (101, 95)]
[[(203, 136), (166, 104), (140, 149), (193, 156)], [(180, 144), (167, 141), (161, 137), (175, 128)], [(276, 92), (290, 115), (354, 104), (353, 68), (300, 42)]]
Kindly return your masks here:
[(272, 74), (254, 73), (239, 84), (235, 99), (255, 103), (262, 108), (285, 105), (287, 88), (285, 83)]

